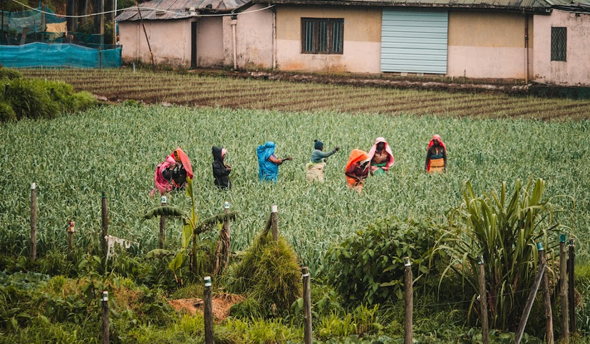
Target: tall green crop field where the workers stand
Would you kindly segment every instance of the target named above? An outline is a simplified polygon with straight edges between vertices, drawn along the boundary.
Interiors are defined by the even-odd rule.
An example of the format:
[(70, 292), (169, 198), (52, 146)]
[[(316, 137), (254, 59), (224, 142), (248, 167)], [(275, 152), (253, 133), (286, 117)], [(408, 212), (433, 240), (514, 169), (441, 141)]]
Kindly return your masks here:
[[(159, 221), (141, 221), (159, 204), (150, 198), (155, 165), (182, 147), (195, 170), (202, 217), (222, 212), (224, 201), (239, 212), (232, 224), (232, 249), (246, 249), (262, 231), (271, 204), (279, 207), (279, 231), (312, 271), (329, 246), (382, 217), (432, 217), (444, 223), (460, 203), (463, 182), (477, 192), (529, 176), (547, 181), (547, 197), (564, 212), (562, 231), (579, 239), (578, 257), (589, 259), (590, 156), (587, 120), (474, 120), (331, 112), (277, 112), (222, 108), (107, 106), (54, 120), (21, 120), (0, 127), (0, 251), (26, 254), (29, 246), (29, 187), (38, 185), (38, 251), (66, 248), (66, 222), (76, 221), (76, 246), (98, 250), (100, 192), (108, 195), (110, 234), (157, 247)], [(448, 147), (447, 174), (423, 172), (433, 134)], [(368, 150), (376, 137), (393, 149), (395, 166), (371, 177), (363, 194), (346, 188), (344, 166), (353, 148)], [(308, 184), (304, 165), (313, 140), (341, 151), (328, 159), (325, 184)], [(257, 145), (277, 144), (279, 182), (260, 184)], [(213, 185), (211, 147), (229, 151), (234, 188)], [(566, 197), (575, 200), (573, 203)], [(185, 194), (169, 204), (188, 209)], [(570, 229), (571, 227), (571, 229)], [(167, 246), (178, 247), (180, 223), (167, 222)], [(214, 235), (214, 234), (211, 234)]]

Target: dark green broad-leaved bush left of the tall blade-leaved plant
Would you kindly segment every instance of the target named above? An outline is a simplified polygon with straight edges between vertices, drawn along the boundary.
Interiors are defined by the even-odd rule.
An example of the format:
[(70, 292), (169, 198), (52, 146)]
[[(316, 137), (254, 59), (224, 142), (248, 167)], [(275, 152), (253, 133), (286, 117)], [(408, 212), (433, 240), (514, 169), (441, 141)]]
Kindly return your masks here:
[[(437, 286), (445, 252), (435, 251), (440, 236), (432, 222), (379, 219), (328, 251), (334, 261), (328, 273), (345, 301), (383, 303), (403, 297), (403, 258), (411, 259), (417, 286)], [(429, 260), (432, 256), (432, 260)]]

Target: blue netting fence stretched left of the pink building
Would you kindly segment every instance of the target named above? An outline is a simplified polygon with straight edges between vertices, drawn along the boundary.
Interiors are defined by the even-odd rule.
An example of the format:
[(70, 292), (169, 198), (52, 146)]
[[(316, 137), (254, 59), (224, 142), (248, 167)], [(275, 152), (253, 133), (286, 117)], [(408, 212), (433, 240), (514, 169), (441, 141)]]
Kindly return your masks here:
[(47, 43), (0, 46), (0, 63), (9, 68), (119, 68), (121, 48), (98, 50), (76, 44)]

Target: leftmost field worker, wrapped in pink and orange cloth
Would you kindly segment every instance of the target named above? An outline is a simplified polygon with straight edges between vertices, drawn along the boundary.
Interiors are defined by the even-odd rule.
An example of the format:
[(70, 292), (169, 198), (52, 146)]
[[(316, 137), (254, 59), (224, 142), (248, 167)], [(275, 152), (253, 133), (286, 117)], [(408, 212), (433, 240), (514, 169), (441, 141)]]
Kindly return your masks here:
[(182, 189), (185, 187), (187, 177), (192, 179), (192, 175), (190, 159), (180, 147), (177, 147), (171, 155), (166, 157), (165, 162), (157, 165), (154, 177), (155, 187), (150, 194), (153, 196), (156, 189), (162, 195), (172, 189)]

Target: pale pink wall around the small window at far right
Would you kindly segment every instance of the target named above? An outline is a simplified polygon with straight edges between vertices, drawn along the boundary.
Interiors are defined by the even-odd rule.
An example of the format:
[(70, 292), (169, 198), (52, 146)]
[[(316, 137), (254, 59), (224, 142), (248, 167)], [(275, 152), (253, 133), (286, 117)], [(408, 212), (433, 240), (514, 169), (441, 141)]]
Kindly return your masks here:
[[(566, 61), (551, 61), (551, 28), (567, 28)], [(534, 16), (534, 79), (559, 85), (590, 85), (590, 14), (553, 10)]]

